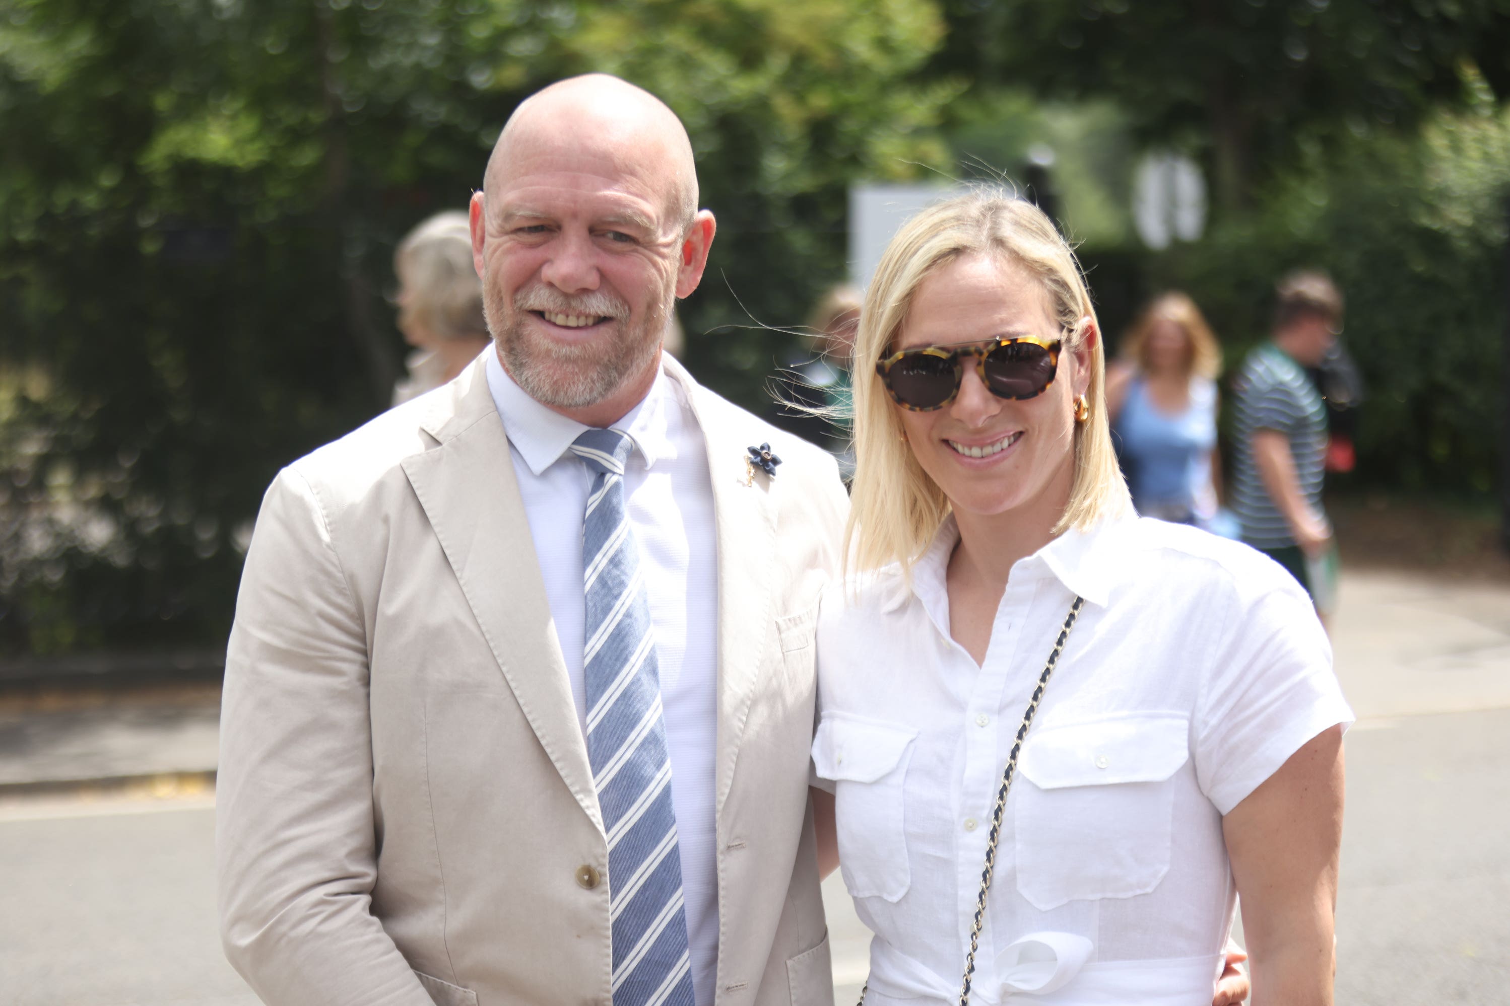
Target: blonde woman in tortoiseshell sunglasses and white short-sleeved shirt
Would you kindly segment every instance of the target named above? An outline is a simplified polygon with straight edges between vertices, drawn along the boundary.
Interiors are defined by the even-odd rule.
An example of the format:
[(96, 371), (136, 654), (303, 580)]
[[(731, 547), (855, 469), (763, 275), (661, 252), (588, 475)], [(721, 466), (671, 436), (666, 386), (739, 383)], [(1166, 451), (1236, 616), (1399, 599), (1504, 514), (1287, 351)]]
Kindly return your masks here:
[(1255, 1004), (1330, 1003), (1351, 712), (1326, 635), (1279, 566), (1132, 514), (1054, 226), (992, 193), (921, 213), (855, 359), (812, 759), (876, 934), (864, 1001), (959, 1001), (972, 946), (972, 1003), (1228, 1001), (1241, 894)]

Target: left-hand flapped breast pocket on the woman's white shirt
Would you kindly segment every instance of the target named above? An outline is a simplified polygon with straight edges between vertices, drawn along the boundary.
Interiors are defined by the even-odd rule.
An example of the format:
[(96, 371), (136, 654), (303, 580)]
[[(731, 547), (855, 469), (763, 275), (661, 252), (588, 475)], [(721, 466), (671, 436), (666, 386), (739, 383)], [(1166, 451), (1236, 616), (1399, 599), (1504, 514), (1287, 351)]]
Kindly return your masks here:
[(918, 731), (824, 713), (812, 738), (820, 778), (834, 780), (840, 870), (853, 897), (898, 900), (912, 884), (903, 833), (903, 784)]

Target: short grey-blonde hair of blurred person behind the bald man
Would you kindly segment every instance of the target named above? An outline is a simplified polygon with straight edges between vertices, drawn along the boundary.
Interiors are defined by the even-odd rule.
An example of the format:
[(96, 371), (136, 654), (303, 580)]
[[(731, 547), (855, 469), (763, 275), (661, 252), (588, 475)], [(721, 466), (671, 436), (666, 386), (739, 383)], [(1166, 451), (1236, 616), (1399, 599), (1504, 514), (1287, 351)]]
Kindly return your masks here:
[(393, 271), (402, 287), (400, 327), (418, 321), (438, 339), (488, 338), (465, 213), (436, 213), (409, 231), (393, 253)]

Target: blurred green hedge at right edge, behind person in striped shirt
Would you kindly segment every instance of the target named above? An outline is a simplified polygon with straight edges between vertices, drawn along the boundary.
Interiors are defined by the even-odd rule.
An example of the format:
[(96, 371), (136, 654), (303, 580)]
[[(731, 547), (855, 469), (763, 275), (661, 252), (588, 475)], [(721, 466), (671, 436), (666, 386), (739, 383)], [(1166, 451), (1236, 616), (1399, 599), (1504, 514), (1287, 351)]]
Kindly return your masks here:
[(1196, 297), (1231, 370), (1267, 332), (1279, 273), (1327, 268), (1370, 386), (1342, 481), (1486, 496), (1505, 410), (1510, 110), (1484, 101), (1418, 134), (1309, 145), (1259, 205), (1154, 259), (1148, 281)]

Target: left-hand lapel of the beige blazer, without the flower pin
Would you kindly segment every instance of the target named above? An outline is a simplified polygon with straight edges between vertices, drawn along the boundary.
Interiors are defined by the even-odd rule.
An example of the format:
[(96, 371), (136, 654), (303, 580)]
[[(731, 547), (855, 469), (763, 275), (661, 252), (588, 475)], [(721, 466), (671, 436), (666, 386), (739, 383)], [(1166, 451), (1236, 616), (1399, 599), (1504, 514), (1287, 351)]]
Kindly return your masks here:
[(587, 744), (483, 362), (451, 385), (451, 397), (424, 424), (439, 446), (406, 459), (403, 471), (519, 709), (577, 802), (602, 828)]

